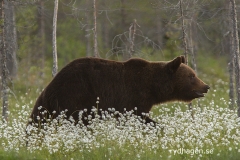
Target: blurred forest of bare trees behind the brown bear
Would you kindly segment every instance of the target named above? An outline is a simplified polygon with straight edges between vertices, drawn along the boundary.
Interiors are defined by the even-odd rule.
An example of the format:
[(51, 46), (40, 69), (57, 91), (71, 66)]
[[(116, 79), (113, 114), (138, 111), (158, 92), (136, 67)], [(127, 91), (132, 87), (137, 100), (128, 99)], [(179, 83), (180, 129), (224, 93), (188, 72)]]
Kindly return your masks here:
[[(54, 1), (4, 2), (9, 96), (18, 101), (18, 94), (34, 92), (37, 97), (52, 79)], [(206, 73), (207, 81), (230, 77), (234, 86), (228, 0), (61, 0), (57, 14), (59, 69), (86, 56), (164, 61), (187, 54), (188, 64)]]

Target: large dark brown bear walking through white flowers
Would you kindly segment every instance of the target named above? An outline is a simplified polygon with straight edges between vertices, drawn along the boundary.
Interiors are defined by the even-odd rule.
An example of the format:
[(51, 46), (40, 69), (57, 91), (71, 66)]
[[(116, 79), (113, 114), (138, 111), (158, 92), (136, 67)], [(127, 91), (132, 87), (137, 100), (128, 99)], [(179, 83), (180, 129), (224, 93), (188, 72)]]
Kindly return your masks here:
[[(97, 97), (100, 99), (98, 110), (115, 108), (124, 112), (124, 108), (129, 111), (137, 107), (136, 114), (141, 117), (155, 104), (190, 102), (204, 97), (210, 87), (184, 63), (184, 56), (169, 62), (149, 62), (139, 58), (125, 62), (76, 59), (59, 71), (43, 90), (31, 118), (38, 122), (39, 118), (44, 118), (43, 110), (50, 114), (55, 112), (54, 118), (67, 109), (66, 116), (78, 120), (78, 111), (87, 109), (89, 114), (92, 106), (96, 106)], [(154, 121), (147, 117), (145, 122)]]

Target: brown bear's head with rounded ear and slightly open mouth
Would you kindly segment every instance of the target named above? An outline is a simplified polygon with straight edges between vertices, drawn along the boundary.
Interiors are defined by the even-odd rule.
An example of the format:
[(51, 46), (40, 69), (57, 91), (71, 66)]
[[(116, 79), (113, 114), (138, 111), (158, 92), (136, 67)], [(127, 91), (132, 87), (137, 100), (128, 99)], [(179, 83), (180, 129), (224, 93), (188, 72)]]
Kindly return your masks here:
[(185, 64), (184, 56), (179, 56), (167, 63), (172, 75), (173, 99), (190, 102), (204, 97), (210, 87), (199, 79), (192, 68)]

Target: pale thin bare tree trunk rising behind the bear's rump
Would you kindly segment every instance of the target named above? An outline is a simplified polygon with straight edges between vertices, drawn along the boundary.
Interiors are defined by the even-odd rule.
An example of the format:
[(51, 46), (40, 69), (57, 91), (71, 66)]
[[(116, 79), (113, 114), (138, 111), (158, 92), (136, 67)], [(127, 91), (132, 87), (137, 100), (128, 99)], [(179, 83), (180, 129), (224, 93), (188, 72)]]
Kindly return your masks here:
[(53, 13), (53, 70), (52, 76), (54, 77), (58, 72), (58, 59), (57, 59), (57, 13), (58, 13), (58, 0), (54, 2)]

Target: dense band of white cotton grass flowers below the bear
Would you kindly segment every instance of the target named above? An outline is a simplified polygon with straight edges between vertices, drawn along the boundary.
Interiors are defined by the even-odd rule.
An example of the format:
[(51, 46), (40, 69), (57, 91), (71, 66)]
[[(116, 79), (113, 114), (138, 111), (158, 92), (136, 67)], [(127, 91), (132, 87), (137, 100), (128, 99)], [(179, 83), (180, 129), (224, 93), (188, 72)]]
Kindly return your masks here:
[[(126, 152), (132, 148), (138, 150), (137, 157), (140, 159), (147, 152), (159, 154), (159, 157), (167, 153), (166, 157), (174, 158), (169, 149), (177, 148), (214, 148), (214, 154), (220, 156), (224, 152), (240, 152), (239, 118), (228, 108), (214, 106), (215, 103), (195, 107), (193, 118), (190, 111), (177, 105), (172, 108), (163, 105), (154, 117), (159, 122), (156, 127), (142, 123), (144, 120), (134, 115), (135, 108), (123, 113), (110, 108), (108, 111), (101, 110), (102, 116), (86, 114), (87, 109), (79, 111), (79, 121), (72, 117), (67, 120), (65, 110), (57, 118), (49, 118), (45, 124), (41, 124), (38, 117), (40, 121), (27, 128), (30, 107), (19, 106), (18, 117), (11, 123), (0, 121), (0, 144), (6, 151), (18, 152), (27, 141), (30, 152), (44, 150), (50, 154), (68, 154), (76, 150), (92, 152), (105, 147), (109, 155), (114, 155), (116, 148), (125, 149)], [(94, 111), (96, 108), (93, 108)], [(152, 113), (142, 116), (153, 117)], [(83, 124), (82, 118), (90, 122), (88, 126)], [(224, 149), (220, 152), (217, 148)], [(197, 155), (193, 156), (198, 158)], [(204, 154), (201, 156), (204, 159)]]

